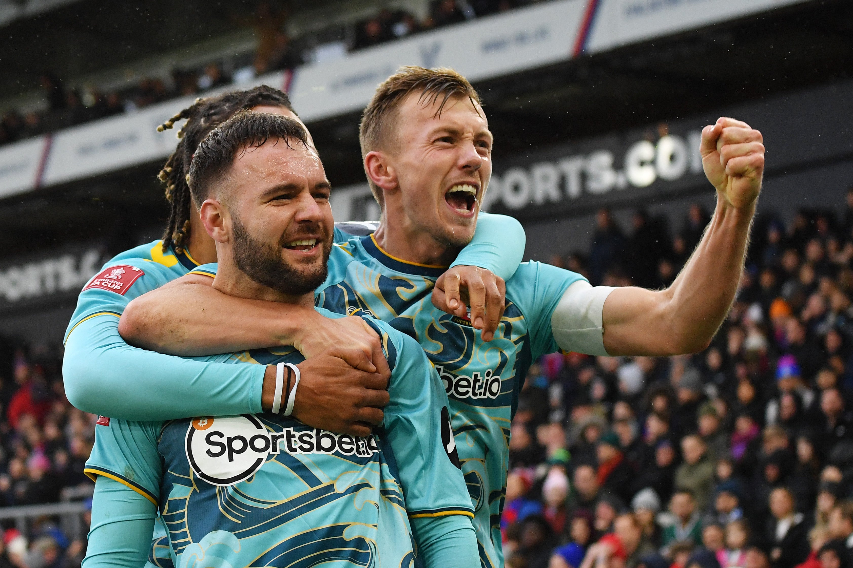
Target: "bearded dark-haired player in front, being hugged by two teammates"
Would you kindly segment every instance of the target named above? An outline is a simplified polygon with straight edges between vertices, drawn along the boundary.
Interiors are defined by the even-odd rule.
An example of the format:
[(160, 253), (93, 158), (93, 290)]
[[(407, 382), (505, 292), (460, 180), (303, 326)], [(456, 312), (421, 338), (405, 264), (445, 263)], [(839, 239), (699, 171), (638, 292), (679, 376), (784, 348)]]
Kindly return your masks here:
[[(292, 118), (238, 113), (200, 144), (189, 184), (223, 294), (314, 310), (330, 260), (333, 282), (357, 264), (333, 247), (331, 186)], [(171, 278), (147, 269), (150, 281)], [(385, 420), (368, 437), (299, 422), (295, 397), (258, 415), (99, 422), (85, 468), (96, 491), (84, 567), (142, 564), (157, 509), (174, 565), (476, 565), (442, 382), (417, 341), (364, 318), (391, 368)], [(298, 384), (303, 357), (277, 347), (197, 359), (273, 365), (282, 391), (285, 373)]]

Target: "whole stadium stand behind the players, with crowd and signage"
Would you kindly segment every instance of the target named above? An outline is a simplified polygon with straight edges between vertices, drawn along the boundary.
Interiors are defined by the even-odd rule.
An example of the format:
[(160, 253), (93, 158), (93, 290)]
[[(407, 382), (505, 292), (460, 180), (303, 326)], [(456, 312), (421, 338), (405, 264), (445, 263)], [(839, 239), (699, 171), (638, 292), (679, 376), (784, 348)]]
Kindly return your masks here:
[[(379, 52), (397, 49), (415, 34), (429, 38), (427, 48), (443, 42), (441, 57), (463, 54), (476, 61), (465, 72), (484, 93), (498, 141), (489, 210), (524, 222), (531, 258), (584, 273), (594, 284), (669, 284), (698, 240), (710, 211), (708, 187), (688, 152), (679, 161), (673, 148), (693, 152), (701, 125), (731, 109), (762, 129), (768, 141), (766, 191), (747, 271), (732, 315), (711, 347), (670, 359), (554, 354), (531, 367), (511, 427), (501, 519), (507, 565), (792, 568), (807, 554), (803, 568), (853, 567), (845, 546), (853, 544), (853, 509), (846, 504), (853, 497), (853, 198), (843, 204), (838, 197), (853, 180), (850, 3), (773, 0), (779, 9), (771, 11), (750, 8), (770, 3), (715, 0), (703, 6), (728, 8), (719, 17), (697, 20), (693, 14), (704, 13), (679, 2), (631, 0), (618, 3), (630, 10), (608, 11), (617, 3), (583, 0), (604, 8), (597, 15), (569, 10), (580, 3), (364, 3), (329, 14), (316, 26), (293, 28), (287, 21), (299, 14), (264, 12), (270, 7), (252, 2), (254, 11), (240, 7), (246, 13), (236, 27), (250, 38), (240, 49), (210, 49), (211, 54), (176, 58), (177, 64), (143, 62), (161, 51), (164, 36), (193, 27), (181, 14), (153, 25), (163, 35), (152, 34), (140, 49), (144, 53), (129, 60), (131, 78), (89, 82), (94, 74), (51, 67), (55, 74), (41, 77), (38, 110), (15, 106), (23, 97), (4, 102), (0, 145), (56, 135), (42, 137), (52, 141), (40, 142), (38, 151), (20, 150), (36, 156), (32, 171), (30, 165), (19, 168), (17, 158), (0, 164), (0, 177), (11, 179), (19, 169), (26, 174), (20, 184), (7, 181), (0, 195), (6, 244), (0, 259), (0, 332), (6, 335), (0, 338), (0, 568), (76, 568), (83, 558), (92, 484), (80, 472), (97, 417), (67, 403), (55, 338), (96, 267), (156, 238), (162, 228), (157, 223), (165, 218), (156, 174), (168, 148), (138, 160), (116, 151), (119, 165), (97, 158), (97, 152), (107, 154), (131, 135), (153, 136), (154, 126), (174, 112), (155, 117), (158, 105), (181, 103), (181, 97), (191, 101), (232, 84), (252, 84), (270, 72), (297, 67), (306, 72), (324, 58), (346, 58), (347, 66), (363, 58), (347, 69), (352, 72), (347, 79), (364, 77), (380, 63), (384, 70), (392, 58)], [(82, 11), (96, 3), (55, 4)], [(116, 11), (105, 22), (121, 21), (120, 4), (113, 4)], [(192, 3), (176, 3), (175, 10), (178, 4)], [(171, 9), (170, 4), (170, 15)], [(560, 47), (562, 59), (543, 57), (542, 46), (565, 39), (560, 34), (571, 27), (571, 18), (540, 14), (529, 26), (513, 27), (523, 10), (539, 9), (571, 12), (583, 24), (577, 39)], [(672, 16), (675, 26), (655, 11), (670, 9), (678, 13)], [(499, 14), (509, 10), (511, 15)], [(646, 28), (619, 26), (617, 16), (654, 26), (647, 35), (632, 35)], [(18, 23), (26, 21), (21, 16)], [(461, 32), (475, 26), (489, 27), (491, 35)], [(519, 34), (524, 26), (545, 32)], [(296, 31), (288, 33), (291, 29)], [(76, 32), (84, 33), (83, 26)], [(482, 49), (461, 42), (463, 35), (485, 42)], [(533, 59), (523, 51), (528, 42)], [(413, 62), (427, 66), (438, 52), (418, 49), (424, 59)], [(815, 53), (821, 55), (819, 65)], [(484, 72), (491, 65), (484, 54), (505, 66), (495, 75)], [(514, 66), (514, 58), (523, 64)], [(44, 68), (20, 59), (37, 73)], [(4, 65), (12, 67), (9, 58)], [(287, 73), (276, 80), (281, 75)], [(305, 84), (291, 95), (310, 106), (305, 91), (332, 83)], [(355, 93), (357, 83), (350, 86), (353, 93), (341, 95), (343, 102), (332, 101), (332, 110), (308, 120), (335, 195), (343, 196), (338, 201), (343, 209), (335, 210), (339, 221), (376, 218), (357, 151), (363, 93)], [(297, 105), (309, 116), (304, 108)], [(94, 132), (98, 119), (113, 117), (103, 124), (142, 116), (150, 124), (134, 123), (131, 135), (113, 124), (63, 146), (75, 133)], [(68, 128), (83, 123), (90, 124)], [(642, 175), (625, 179), (637, 145), (664, 139), (675, 144), (665, 159), (655, 146), (654, 164), (635, 164), (640, 174), (654, 166), (652, 181)], [(3, 152), (15, 148), (7, 144)], [(48, 158), (61, 167), (51, 171)], [(74, 169), (87, 159), (101, 168)], [(362, 185), (348, 189), (350, 184)], [(350, 193), (357, 196), (347, 205)], [(802, 209), (804, 204), (811, 209)], [(598, 209), (602, 205), (612, 210)], [(648, 209), (632, 214), (638, 206)], [(682, 443), (693, 432), (699, 439)], [(782, 486), (792, 491), (792, 511), (774, 491)], [(678, 493), (680, 488), (691, 493)], [(635, 517), (622, 516), (627, 511)], [(821, 548), (830, 537), (850, 541)], [(837, 565), (821, 564), (833, 554)]]

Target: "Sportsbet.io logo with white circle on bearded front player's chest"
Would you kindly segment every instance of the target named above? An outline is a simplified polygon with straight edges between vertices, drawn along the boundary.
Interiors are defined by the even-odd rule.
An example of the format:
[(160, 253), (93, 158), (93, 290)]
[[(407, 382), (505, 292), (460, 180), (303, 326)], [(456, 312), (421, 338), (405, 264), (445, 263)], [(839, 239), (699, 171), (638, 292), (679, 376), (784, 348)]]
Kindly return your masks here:
[(376, 439), (356, 438), (314, 428), (270, 432), (257, 416), (243, 414), (194, 418), (184, 442), (187, 460), (212, 485), (235, 485), (249, 479), (270, 455), (339, 454), (368, 457), (379, 451)]

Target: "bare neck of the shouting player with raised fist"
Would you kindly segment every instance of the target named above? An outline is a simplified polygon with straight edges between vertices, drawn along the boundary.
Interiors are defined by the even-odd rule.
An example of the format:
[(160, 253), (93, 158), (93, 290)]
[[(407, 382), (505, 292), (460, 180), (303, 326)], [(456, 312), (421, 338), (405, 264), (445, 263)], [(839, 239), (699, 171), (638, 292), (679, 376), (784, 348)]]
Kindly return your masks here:
[[(432, 267), (449, 267), (456, 260), (458, 249), (438, 242), (430, 232), (412, 223), (402, 211), (399, 213), (386, 215), (383, 212), (380, 226), (374, 232), (376, 244), (387, 255)], [(389, 223), (388, 218), (394, 219), (394, 222)]]

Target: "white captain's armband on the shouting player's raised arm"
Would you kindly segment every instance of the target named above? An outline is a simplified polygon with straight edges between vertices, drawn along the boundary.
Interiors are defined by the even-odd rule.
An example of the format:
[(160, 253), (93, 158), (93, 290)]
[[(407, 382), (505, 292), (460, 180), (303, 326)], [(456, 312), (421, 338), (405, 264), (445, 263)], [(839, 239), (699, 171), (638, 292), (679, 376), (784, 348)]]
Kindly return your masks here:
[(578, 280), (566, 288), (551, 316), (554, 341), (564, 351), (607, 356), (604, 348), (604, 301), (612, 286), (595, 286)]

